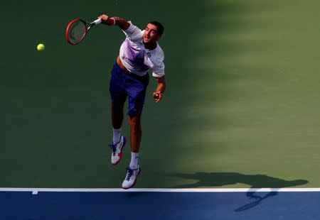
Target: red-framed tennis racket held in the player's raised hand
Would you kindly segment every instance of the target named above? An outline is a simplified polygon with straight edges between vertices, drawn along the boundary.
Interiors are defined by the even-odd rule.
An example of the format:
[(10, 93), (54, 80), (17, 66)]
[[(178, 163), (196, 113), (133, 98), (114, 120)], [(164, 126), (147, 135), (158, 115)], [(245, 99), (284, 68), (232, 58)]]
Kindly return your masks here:
[(85, 35), (92, 26), (100, 23), (101, 19), (87, 23), (79, 18), (75, 18), (68, 24), (67, 29), (65, 30), (65, 38), (67, 39), (68, 43), (76, 45), (85, 39)]

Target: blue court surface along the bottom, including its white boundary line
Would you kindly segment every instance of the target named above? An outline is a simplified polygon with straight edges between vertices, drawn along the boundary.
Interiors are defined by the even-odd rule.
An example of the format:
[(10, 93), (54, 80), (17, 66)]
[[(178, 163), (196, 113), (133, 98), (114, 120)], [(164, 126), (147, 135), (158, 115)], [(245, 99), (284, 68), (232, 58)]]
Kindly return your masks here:
[(320, 219), (320, 189), (0, 189), (0, 219)]

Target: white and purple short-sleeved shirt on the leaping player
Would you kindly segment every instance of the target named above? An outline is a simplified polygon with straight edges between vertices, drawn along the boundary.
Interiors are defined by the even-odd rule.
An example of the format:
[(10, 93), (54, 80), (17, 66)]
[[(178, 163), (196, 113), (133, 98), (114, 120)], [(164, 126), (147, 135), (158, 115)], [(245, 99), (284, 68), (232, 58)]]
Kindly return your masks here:
[(130, 26), (123, 31), (126, 39), (120, 47), (119, 57), (124, 67), (139, 76), (147, 74), (148, 70), (152, 70), (152, 76), (164, 76), (164, 52), (160, 45), (156, 43), (154, 50), (144, 48), (142, 36), (144, 31), (134, 26), (129, 21)]

